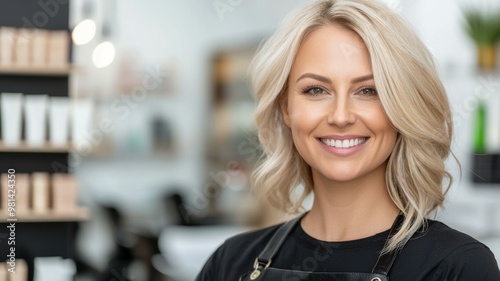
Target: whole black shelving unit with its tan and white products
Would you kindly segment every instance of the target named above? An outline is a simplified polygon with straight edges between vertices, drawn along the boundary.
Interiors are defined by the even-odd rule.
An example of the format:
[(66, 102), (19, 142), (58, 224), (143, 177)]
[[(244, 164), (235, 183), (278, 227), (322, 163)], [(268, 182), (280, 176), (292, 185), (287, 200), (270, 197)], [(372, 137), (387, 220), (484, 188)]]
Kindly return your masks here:
[[(9, 219), (15, 218), (16, 260), (26, 261), (28, 281), (35, 279), (35, 258), (74, 257), (77, 222), (90, 217), (78, 206), (76, 180), (68, 173), (73, 149), (69, 117), (62, 117), (71, 110), (69, 79), (75, 71), (69, 5), (57, 4), (58, 12), (40, 24), (40, 17), (29, 16), (44, 14), (39, 1), (0, 2), (0, 235), (9, 235)], [(14, 170), (11, 217), (4, 175)], [(7, 250), (0, 247), (0, 255)]]

